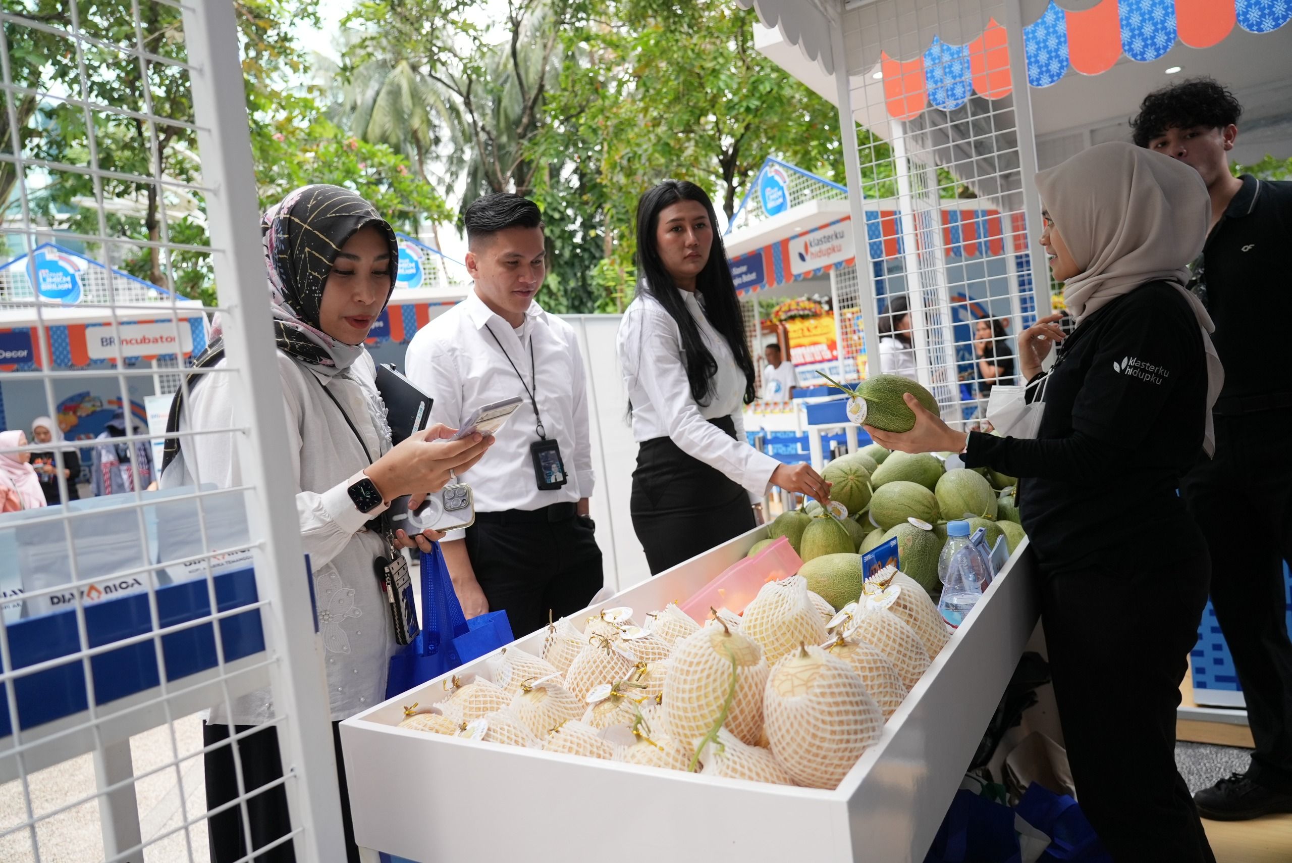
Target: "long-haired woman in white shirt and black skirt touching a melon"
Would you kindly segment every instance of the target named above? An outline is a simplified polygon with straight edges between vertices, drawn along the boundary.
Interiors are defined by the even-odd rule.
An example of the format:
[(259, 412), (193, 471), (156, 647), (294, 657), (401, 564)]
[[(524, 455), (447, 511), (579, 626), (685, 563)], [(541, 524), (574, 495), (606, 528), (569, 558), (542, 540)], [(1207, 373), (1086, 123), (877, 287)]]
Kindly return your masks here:
[(753, 359), (714, 222), (691, 182), (665, 180), (637, 203), (637, 297), (619, 327), (619, 366), (641, 444), (633, 528), (652, 575), (751, 530), (769, 486), (829, 499), (811, 465), (745, 442)]

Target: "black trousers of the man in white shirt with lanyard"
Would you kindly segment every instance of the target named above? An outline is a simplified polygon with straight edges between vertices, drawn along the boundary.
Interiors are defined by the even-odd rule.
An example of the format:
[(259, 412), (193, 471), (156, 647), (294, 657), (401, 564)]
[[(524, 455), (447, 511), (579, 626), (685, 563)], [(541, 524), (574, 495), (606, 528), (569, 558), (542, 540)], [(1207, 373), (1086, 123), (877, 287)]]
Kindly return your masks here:
[(466, 554), (490, 610), (506, 611), (517, 638), (543, 629), (549, 611), (584, 608), (605, 584), (596, 534), (574, 504), (477, 513)]

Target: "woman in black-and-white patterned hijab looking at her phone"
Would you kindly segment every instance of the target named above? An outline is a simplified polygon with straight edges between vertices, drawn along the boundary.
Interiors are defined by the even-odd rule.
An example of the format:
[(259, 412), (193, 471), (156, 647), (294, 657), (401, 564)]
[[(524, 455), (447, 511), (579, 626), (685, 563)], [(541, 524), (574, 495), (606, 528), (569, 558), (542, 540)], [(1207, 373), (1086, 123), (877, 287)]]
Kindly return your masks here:
[[(357, 862), (337, 723), (385, 699), (386, 669), (398, 650), (375, 563), (379, 557), (393, 559), (402, 553), (398, 548), (429, 550), (428, 540), (442, 536), (391, 532), (382, 514), (395, 497), (420, 500), (443, 488), (451, 472), (475, 464), (492, 438), (438, 441), (453, 430), (437, 425), (391, 447), (376, 366), (363, 342), (390, 298), (399, 248), (372, 204), (339, 186), (305, 186), (265, 214), (261, 231), (278, 345), (278, 367), (262, 371), (276, 373), (283, 388), (301, 545), (318, 599), (345, 858)], [(196, 368), (224, 364), (218, 328), (213, 336)], [(230, 375), (190, 375), (171, 406), (167, 430), (238, 428), (244, 420), (236, 415), (236, 386)], [(165, 487), (244, 484), (234, 434), (169, 438), (162, 470)], [(239, 797), (230, 731), (247, 734), (238, 739), (243, 789), (252, 792), (283, 775), (276, 727), (266, 725), (274, 716), (270, 690), (211, 711), (203, 725), (208, 809)], [(214, 863), (247, 859), (291, 831), (282, 785), (251, 793), (245, 811), (252, 849), (244, 841), (242, 806), (211, 816)], [(255, 859), (296, 858), (292, 844), (284, 842)]]

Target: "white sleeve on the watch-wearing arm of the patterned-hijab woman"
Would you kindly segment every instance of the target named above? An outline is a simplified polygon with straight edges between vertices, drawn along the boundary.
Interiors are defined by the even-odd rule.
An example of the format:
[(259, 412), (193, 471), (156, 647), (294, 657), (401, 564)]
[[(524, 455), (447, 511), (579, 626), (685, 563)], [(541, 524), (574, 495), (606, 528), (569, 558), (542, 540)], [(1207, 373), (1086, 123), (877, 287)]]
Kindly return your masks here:
[[(279, 363), (292, 360), (279, 357)], [(304, 372), (310, 375), (311, 372)], [(208, 375), (193, 390), (185, 408), (183, 429), (227, 429), (238, 425), (234, 417), (231, 375)], [(335, 558), (370, 518), (380, 515), (385, 508), (360, 513), (350, 500), (350, 483), (341, 482), (323, 492), (301, 491), (301, 448), (305, 444), (301, 429), (309, 424), (304, 417), (300, 393), (283, 381), (283, 410), (287, 413), (287, 447), (292, 453), (292, 475), (296, 479), (296, 514), (301, 526), (301, 548), (310, 556), (310, 566), (317, 571)], [(317, 419), (317, 417), (315, 417)], [(185, 439), (185, 469), (194, 482), (214, 483), (220, 488), (243, 484), (242, 461), (236, 434), (202, 434)]]

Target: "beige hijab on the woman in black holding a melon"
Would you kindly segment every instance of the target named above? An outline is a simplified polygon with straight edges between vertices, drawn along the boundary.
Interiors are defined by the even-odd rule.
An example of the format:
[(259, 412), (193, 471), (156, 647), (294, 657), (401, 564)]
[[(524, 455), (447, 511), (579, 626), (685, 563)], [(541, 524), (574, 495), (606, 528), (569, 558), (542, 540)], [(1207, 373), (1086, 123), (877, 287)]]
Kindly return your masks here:
[(1149, 282), (1171, 282), (1189, 300), (1207, 350), (1207, 455), (1216, 453), (1212, 407), (1225, 382), (1207, 309), (1185, 286), (1211, 229), (1211, 198), (1196, 171), (1130, 143), (1083, 150), (1036, 174), (1036, 187), (1065, 245), (1081, 267), (1063, 286), (1080, 323)]

